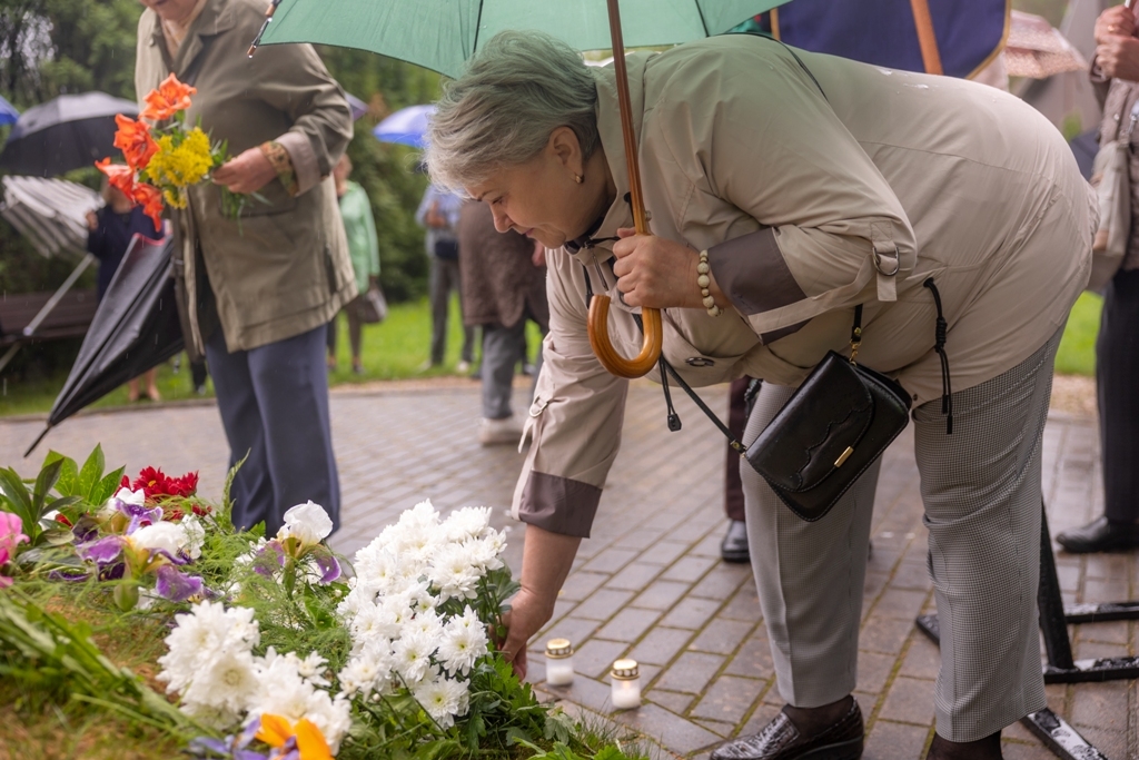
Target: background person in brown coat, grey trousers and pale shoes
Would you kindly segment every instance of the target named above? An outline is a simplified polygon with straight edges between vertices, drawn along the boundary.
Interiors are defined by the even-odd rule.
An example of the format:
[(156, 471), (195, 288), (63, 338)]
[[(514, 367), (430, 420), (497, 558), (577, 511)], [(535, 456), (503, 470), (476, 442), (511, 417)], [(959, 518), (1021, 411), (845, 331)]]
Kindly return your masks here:
[[(462, 319), (483, 328), (483, 446), (517, 443), (522, 424), (510, 408), (514, 368), (525, 362), (526, 319), (549, 329), (546, 248), (515, 231), (499, 232), (484, 203), (467, 201), (459, 211)], [(538, 354), (541, 370), (542, 354)], [(534, 373), (535, 377), (538, 371)]]

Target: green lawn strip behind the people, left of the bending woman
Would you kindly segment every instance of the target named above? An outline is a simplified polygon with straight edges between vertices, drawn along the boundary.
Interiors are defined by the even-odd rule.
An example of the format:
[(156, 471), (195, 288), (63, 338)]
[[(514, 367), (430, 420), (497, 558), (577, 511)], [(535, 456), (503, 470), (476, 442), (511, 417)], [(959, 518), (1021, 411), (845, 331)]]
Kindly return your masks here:
[[(459, 317), (458, 300), (452, 299), (451, 313), (448, 319), (446, 357), (442, 367), (433, 367), (419, 371), (431, 352), (431, 311), (426, 299), (393, 304), (387, 319), (379, 325), (364, 325), (363, 375), (352, 374), (352, 358), (349, 349), (347, 320), (339, 317), (339, 341), (337, 351), (337, 369), (329, 375), (331, 385), (367, 383), (378, 379), (405, 379), (412, 377), (440, 377), (453, 375), (462, 346), (462, 327)], [(533, 356), (538, 350), (541, 336), (536, 326), (528, 325), (528, 346)], [(477, 346), (475, 351), (478, 353)], [(39, 378), (28, 382), (11, 379), (0, 381), (0, 417), (21, 414), (47, 412), (51, 409), (56, 395), (67, 379), (62, 374), (50, 378)], [(196, 399), (190, 384), (190, 371), (186, 362), (179, 373), (174, 373), (174, 362), (169, 361), (158, 368), (158, 391), (163, 400)], [(146, 386), (142, 386), (145, 394)], [(213, 382), (206, 384), (206, 398), (213, 395)], [(116, 389), (103, 399), (96, 401), (92, 408), (116, 407), (128, 403), (126, 386)], [(140, 401), (140, 404), (148, 403)]]

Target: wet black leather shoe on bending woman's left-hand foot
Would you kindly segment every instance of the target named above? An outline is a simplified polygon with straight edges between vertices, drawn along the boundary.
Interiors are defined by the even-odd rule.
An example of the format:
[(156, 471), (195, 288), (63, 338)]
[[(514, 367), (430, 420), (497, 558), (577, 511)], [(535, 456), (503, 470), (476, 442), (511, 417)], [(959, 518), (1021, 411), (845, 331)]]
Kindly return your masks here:
[(858, 760), (865, 733), (857, 700), (838, 722), (813, 736), (801, 736), (780, 712), (759, 734), (716, 747), (711, 760)]

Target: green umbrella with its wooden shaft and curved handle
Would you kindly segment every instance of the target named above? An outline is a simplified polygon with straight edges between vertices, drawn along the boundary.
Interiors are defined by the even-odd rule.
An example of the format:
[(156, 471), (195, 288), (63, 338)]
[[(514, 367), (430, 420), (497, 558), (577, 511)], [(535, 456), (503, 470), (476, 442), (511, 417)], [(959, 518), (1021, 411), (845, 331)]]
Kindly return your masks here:
[[(721, 34), (782, 2), (786, 0), (624, 0), (629, 44), (679, 44)], [(480, 44), (505, 30), (546, 32), (577, 50), (613, 50), (630, 205), (637, 231), (648, 234), (618, 0), (272, 0), (265, 16), (249, 55), (257, 44), (336, 44), (400, 58), (452, 77), (461, 73), (464, 62)], [(595, 295), (589, 304), (589, 342), (598, 360), (620, 377), (652, 371), (661, 358), (659, 310), (641, 310), (645, 340), (632, 359), (613, 348), (608, 313), (608, 296)]]

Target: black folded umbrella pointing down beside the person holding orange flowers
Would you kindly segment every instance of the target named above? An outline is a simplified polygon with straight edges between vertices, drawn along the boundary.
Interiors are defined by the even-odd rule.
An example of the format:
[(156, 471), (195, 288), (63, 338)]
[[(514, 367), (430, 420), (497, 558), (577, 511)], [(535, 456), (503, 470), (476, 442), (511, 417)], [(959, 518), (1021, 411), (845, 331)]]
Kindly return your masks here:
[(156, 243), (134, 236), (99, 302), (48, 425), (25, 457), (49, 430), (182, 350), (171, 250), (169, 238)]

